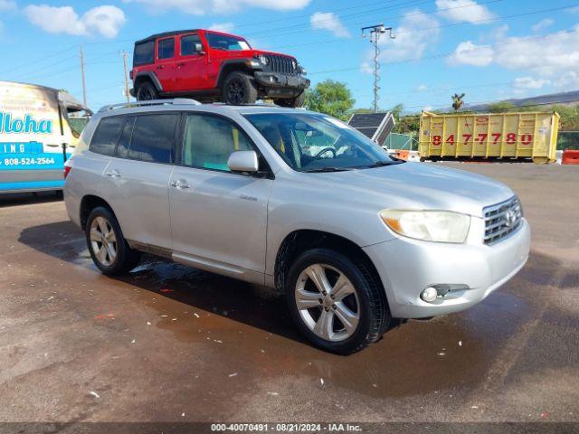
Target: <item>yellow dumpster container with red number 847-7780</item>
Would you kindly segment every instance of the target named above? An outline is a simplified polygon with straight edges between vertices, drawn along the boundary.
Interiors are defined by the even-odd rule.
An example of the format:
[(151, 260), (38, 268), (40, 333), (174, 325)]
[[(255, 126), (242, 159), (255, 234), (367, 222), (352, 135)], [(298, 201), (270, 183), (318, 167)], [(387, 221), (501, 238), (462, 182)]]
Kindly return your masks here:
[(424, 159), (556, 161), (557, 113), (437, 115), (422, 112), (419, 151)]

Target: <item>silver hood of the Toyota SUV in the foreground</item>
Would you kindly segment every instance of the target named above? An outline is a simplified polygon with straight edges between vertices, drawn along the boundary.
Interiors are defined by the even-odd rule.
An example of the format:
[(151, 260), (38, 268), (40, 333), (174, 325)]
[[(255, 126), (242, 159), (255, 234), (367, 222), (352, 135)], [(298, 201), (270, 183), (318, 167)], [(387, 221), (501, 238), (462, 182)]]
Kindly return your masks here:
[(339, 185), (345, 200), (360, 198), (356, 200), (377, 203), (381, 209), (447, 210), (482, 217), (485, 206), (515, 195), (486, 176), (424, 163), (308, 175), (319, 176), (334, 191)]

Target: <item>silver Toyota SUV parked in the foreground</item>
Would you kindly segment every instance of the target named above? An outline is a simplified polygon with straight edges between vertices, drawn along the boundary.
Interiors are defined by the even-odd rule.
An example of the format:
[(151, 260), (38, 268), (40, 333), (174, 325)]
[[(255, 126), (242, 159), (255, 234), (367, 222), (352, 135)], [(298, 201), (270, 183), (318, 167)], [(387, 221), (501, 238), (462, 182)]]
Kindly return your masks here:
[(338, 354), (375, 342), (393, 318), (475, 305), (528, 257), (506, 185), (393, 159), (303, 109), (107, 106), (66, 172), (67, 210), (103, 273), (148, 252), (277, 288), (301, 332)]

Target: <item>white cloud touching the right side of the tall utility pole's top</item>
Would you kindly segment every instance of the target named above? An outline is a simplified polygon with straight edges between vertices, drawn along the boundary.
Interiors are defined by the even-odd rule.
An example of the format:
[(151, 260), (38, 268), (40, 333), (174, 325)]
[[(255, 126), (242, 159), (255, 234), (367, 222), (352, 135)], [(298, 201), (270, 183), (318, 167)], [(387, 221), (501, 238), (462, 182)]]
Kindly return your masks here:
[[(400, 25), (395, 29), (395, 39), (390, 39), (388, 33), (380, 38), (384, 61), (419, 60), (424, 51), (432, 43), (436, 42), (440, 33), (439, 23), (427, 14), (422, 14), (419, 9), (404, 14)], [(371, 59), (373, 52), (368, 52)]]

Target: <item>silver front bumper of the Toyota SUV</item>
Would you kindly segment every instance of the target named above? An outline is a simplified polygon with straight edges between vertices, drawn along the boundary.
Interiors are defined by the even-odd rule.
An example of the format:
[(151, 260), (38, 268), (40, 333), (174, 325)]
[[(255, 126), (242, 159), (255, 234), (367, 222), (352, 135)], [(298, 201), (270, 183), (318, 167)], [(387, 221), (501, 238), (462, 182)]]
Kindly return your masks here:
[[(491, 246), (445, 244), (397, 238), (364, 248), (375, 264), (394, 317), (423, 318), (459, 312), (505, 284), (522, 269), (530, 250), (526, 220), (508, 238)], [(434, 303), (420, 293), (432, 285), (460, 285)]]

